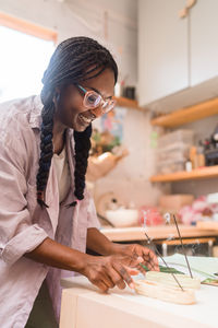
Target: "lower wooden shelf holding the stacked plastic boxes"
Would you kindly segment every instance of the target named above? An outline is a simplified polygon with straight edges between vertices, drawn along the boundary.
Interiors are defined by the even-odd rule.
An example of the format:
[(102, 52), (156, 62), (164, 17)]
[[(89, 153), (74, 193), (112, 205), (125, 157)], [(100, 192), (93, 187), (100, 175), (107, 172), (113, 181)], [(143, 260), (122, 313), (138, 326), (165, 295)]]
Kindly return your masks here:
[(218, 165), (196, 168), (191, 172), (175, 172), (171, 174), (159, 174), (150, 177), (152, 183), (173, 183), (182, 180), (196, 180), (218, 177)]

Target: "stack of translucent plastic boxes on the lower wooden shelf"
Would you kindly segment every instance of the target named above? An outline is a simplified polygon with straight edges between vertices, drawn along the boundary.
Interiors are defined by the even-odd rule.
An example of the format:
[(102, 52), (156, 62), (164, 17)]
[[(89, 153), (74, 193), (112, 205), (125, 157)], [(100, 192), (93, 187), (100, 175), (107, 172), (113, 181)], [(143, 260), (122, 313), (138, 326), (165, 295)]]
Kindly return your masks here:
[(157, 173), (168, 174), (185, 169), (190, 148), (194, 144), (194, 132), (180, 129), (164, 134), (158, 140)]

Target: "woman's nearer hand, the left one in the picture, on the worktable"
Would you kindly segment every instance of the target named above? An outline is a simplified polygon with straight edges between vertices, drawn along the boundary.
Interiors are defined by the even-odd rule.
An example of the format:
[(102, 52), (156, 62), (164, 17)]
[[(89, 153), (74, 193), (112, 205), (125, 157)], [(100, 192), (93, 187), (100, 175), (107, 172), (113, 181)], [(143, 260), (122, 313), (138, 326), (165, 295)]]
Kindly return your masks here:
[(143, 258), (136, 255), (112, 255), (112, 256), (89, 256), (85, 257), (83, 269), (80, 271), (88, 280), (97, 285), (101, 291), (118, 286), (123, 290), (125, 283), (134, 288), (131, 274), (137, 274), (137, 270), (131, 268), (138, 267)]

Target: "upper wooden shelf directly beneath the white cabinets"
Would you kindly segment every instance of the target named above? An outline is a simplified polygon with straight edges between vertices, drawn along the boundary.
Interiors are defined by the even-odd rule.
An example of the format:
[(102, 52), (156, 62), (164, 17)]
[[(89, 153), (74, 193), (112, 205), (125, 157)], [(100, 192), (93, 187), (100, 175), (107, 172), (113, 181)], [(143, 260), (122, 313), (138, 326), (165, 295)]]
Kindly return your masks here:
[(218, 114), (218, 97), (154, 118), (152, 125), (173, 128), (216, 114)]

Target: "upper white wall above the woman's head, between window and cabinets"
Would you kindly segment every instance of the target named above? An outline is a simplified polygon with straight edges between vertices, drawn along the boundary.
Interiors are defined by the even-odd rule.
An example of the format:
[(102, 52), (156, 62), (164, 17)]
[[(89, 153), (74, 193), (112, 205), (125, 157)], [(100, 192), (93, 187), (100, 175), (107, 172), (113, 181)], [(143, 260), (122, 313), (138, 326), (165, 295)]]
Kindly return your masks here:
[[(137, 0), (1, 0), (0, 11), (56, 30), (58, 40), (86, 35), (116, 57), (120, 78), (136, 83)], [(105, 21), (105, 13), (108, 21)]]

